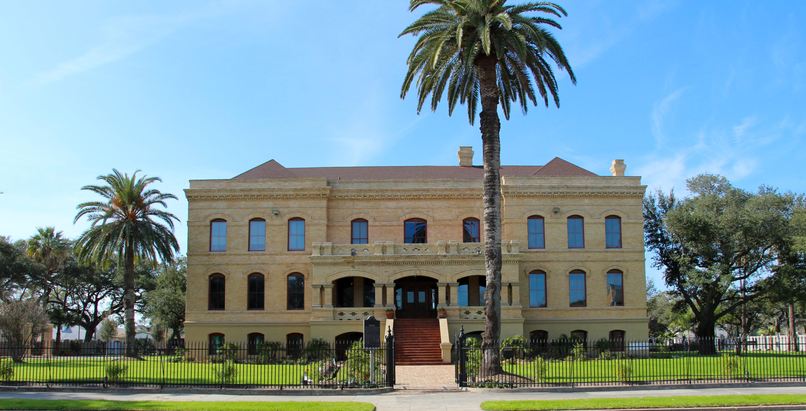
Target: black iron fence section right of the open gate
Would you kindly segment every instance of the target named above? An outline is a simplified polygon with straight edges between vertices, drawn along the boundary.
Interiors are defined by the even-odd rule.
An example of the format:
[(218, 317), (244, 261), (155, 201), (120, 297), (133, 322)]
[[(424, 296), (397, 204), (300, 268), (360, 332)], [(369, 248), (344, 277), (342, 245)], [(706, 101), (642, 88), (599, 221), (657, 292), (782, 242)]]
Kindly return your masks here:
[(729, 339), (567, 338), (509, 339), (483, 349), (479, 339), (463, 333), (455, 340), (460, 387), (806, 381), (803, 344), (765, 349)]

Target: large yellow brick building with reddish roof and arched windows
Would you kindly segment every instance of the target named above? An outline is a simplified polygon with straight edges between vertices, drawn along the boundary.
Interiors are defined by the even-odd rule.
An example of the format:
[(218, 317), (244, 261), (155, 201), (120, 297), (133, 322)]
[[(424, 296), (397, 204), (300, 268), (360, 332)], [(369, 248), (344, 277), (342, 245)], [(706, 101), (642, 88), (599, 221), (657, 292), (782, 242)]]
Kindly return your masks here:
[[(483, 168), (285, 168), (192, 180), (189, 341), (355, 339), (368, 315), (484, 329)], [(502, 337), (645, 339), (640, 177), (502, 166)], [(397, 320), (400, 321), (400, 320)], [(434, 320), (436, 321), (436, 320)], [(385, 323), (384, 323), (385, 322)]]

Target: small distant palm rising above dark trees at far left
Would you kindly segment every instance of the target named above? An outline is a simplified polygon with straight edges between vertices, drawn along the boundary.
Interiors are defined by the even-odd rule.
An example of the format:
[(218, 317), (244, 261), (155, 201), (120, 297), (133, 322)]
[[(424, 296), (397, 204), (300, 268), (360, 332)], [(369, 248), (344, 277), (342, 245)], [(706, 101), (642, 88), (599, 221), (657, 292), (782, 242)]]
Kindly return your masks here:
[(47, 305), (53, 291), (53, 274), (64, 264), (70, 252), (69, 240), (64, 238), (63, 232), (56, 232), (55, 227), (36, 228), (36, 234), (28, 238), (28, 257), (34, 259), (47, 269), (48, 277), (44, 278), (41, 302)]

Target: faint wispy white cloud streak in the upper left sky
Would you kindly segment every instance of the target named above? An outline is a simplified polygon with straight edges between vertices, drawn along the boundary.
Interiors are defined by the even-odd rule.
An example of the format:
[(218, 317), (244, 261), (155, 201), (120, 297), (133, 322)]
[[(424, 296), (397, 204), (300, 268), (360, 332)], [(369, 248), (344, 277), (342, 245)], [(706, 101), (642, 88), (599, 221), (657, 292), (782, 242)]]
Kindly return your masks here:
[(48, 84), (123, 59), (157, 43), (194, 19), (217, 12), (217, 6), (209, 5), (196, 12), (178, 15), (127, 15), (110, 18), (101, 27), (102, 43), (82, 55), (57, 64), (55, 68), (39, 73), (27, 84)]

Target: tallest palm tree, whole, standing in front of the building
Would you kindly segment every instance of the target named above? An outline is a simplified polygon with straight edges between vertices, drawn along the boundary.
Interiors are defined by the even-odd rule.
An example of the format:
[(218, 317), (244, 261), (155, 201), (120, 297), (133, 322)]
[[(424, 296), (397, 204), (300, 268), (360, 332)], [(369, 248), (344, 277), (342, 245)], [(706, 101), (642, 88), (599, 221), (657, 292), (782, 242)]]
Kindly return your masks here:
[[(560, 29), (553, 18), (567, 15), (551, 2), (506, 5), (506, 0), (411, 0), (409, 10), (435, 5), (401, 33), (419, 35), (409, 55), (401, 98), (418, 77), (418, 113), (430, 96), (437, 109), (447, 92), (448, 114), (456, 103), (467, 105), (473, 124), (481, 102), (479, 122), (484, 146), (484, 262), (487, 290), (484, 298), (484, 352), (481, 375), (501, 374), (501, 143), (498, 105), (509, 119), (512, 103), (521, 112), (531, 102), (559, 107), (556, 66), (576, 83), (574, 72), (558, 41), (548, 28)], [(548, 14), (548, 18), (536, 14)], [(537, 92), (535, 91), (537, 89)], [(539, 97), (538, 97), (539, 94)]]

